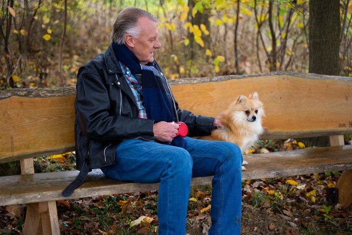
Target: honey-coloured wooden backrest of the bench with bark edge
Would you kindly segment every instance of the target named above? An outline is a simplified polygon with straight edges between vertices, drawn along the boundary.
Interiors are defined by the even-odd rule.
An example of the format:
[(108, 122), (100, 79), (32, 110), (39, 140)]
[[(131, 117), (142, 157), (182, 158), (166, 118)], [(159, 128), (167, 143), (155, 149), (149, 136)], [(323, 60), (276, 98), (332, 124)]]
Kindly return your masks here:
[[(182, 109), (216, 116), (238, 95), (257, 91), (264, 104), (261, 139), (352, 133), (352, 79), (313, 74), (170, 81)], [(0, 163), (74, 150), (75, 87), (0, 92)]]

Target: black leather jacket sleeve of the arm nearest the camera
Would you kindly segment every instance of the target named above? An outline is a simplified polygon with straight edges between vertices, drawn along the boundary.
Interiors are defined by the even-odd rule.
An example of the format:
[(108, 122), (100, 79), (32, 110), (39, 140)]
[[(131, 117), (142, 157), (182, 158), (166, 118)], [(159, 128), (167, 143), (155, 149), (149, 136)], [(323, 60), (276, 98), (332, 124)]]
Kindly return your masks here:
[(137, 137), (154, 139), (153, 120), (117, 115), (101, 76), (79, 72), (75, 101), (79, 126), (95, 141), (120, 141)]

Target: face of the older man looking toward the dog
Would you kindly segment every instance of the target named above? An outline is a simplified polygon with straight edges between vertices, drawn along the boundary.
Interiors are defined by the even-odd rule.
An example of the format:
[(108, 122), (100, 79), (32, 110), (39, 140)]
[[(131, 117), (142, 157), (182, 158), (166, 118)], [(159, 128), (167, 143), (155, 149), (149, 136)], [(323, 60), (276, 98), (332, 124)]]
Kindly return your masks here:
[(138, 20), (140, 33), (132, 38), (133, 46), (129, 47), (142, 64), (154, 61), (154, 52), (161, 47), (158, 40), (158, 29), (154, 21), (142, 17)]

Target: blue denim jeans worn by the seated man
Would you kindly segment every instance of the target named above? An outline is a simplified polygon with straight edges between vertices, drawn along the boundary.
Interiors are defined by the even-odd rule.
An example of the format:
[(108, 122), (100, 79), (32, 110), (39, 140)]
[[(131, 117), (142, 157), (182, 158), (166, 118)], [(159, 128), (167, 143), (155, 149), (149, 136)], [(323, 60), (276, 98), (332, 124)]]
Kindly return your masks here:
[(152, 141), (125, 140), (117, 163), (103, 167), (105, 176), (137, 183), (159, 183), (159, 234), (186, 234), (192, 177), (214, 176), (212, 227), (209, 235), (240, 234), (241, 164), (238, 146), (186, 137), (186, 149)]

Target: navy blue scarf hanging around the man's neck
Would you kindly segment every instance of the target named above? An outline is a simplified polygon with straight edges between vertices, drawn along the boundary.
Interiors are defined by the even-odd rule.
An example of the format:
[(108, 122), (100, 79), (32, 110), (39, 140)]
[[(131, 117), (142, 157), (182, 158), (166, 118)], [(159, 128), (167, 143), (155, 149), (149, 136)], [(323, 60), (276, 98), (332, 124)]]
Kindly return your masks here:
[[(171, 95), (169, 91), (165, 90), (161, 79), (158, 77), (160, 72), (154, 68), (154, 63), (141, 65), (138, 58), (126, 47), (126, 45), (117, 45), (112, 43), (113, 49), (117, 59), (126, 65), (132, 74), (142, 75), (142, 96), (143, 105), (146, 108), (147, 117), (154, 120), (154, 123), (165, 121), (172, 122), (173, 110), (170, 103)], [(167, 88), (166, 88), (167, 89)], [(159, 142), (162, 144), (171, 144), (185, 148), (186, 141), (182, 137), (176, 137), (171, 143)]]

